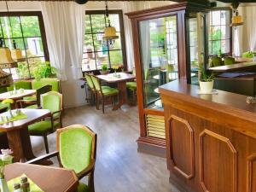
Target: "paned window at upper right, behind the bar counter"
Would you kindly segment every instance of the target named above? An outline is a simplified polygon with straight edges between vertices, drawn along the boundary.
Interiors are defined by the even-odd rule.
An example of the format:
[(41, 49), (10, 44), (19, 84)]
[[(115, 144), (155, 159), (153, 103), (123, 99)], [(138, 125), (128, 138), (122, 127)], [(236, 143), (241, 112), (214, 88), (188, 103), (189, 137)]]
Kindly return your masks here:
[(209, 55), (231, 54), (231, 11), (212, 10), (209, 14)]

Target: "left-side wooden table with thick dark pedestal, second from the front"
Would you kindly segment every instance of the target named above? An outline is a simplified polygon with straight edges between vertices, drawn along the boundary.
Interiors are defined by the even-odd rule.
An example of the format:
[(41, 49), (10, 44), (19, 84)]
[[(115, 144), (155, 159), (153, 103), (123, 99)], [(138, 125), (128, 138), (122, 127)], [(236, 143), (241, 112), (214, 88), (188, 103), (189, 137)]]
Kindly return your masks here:
[[(16, 110), (12, 110), (15, 112)], [(28, 133), (28, 125), (45, 119), (50, 116), (48, 109), (22, 108), (21, 113), (26, 115), (26, 119), (18, 119), (0, 125), (0, 131), (6, 132), (9, 148), (13, 151), (15, 162), (25, 162), (32, 160), (36, 156), (32, 152), (32, 144)], [(1, 113), (1, 116), (8, 116), (9, 112)]]

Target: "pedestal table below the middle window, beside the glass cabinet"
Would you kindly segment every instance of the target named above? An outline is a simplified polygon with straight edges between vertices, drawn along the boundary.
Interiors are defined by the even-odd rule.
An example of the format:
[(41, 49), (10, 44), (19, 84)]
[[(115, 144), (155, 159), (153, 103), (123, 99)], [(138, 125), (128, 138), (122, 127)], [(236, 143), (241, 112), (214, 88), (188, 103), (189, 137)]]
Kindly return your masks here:
[(136, 79), (135, 75), (130, 73), (110, 73), (98, 75), (97, 77), (108, 82), (108, 84), (117, 84), (119, 89), (119, 103), (113, 107), (113, 110), (119, 109), (122, 105), (130, 104), (127, 97), (126, 82)]

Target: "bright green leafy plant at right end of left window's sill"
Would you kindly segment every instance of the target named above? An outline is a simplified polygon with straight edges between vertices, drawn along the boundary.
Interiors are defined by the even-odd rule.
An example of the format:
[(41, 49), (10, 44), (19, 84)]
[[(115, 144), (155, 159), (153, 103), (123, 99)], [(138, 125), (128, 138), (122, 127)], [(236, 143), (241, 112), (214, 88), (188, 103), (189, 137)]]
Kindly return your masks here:
[(51, 67), (49, 61), (46, 61), (35, 68), (33, 71), (33, 76), (35, 79), (40, 80), (43, 78), (55, 78), (56, 73), (57, 69), (55, 67)]

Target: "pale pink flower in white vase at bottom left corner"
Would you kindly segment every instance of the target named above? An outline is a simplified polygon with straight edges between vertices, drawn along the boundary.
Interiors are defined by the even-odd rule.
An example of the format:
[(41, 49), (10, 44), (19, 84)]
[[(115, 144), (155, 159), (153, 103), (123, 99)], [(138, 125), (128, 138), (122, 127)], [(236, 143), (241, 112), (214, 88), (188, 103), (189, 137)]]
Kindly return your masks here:
[(9, 188), (4, 177), (4, 166), (9, 165), (13, 161), (12, 150), (10, 149), (1, 149), (0, 154), (0, 189), (1, 192), (9, 192)]

